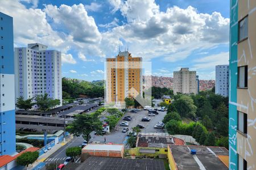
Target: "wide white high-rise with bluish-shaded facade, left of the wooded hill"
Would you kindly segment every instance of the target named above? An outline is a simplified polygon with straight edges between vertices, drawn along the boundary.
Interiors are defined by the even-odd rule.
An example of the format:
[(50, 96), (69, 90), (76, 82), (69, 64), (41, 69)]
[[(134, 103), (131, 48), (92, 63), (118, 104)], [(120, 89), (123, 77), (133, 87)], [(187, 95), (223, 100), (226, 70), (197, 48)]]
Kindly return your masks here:
[(62, 105), (61, 52), (39, 43), (15, 48), (15, 97), (48, 94)]

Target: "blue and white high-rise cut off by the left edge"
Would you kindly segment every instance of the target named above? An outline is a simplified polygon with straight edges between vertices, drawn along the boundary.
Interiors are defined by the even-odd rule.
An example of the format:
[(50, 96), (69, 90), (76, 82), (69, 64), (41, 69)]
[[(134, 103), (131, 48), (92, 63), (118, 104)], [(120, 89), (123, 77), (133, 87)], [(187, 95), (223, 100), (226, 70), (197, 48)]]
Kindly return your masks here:
[(16, 150), (13, 18), (2, 12), (0, 37), (0, 155), (13, 155)]

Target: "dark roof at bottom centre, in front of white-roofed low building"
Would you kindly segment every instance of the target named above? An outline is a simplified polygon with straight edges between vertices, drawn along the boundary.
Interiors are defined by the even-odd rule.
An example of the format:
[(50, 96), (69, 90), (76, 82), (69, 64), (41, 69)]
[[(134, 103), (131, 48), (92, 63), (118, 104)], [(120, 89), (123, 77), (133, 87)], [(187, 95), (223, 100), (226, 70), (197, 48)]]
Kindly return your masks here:
[(64, 169), (93, 169), (93, 170), (164, 170), (164, 162), (159, 159), (125, 159), (89, 156), (83, 163), (71, 163)]

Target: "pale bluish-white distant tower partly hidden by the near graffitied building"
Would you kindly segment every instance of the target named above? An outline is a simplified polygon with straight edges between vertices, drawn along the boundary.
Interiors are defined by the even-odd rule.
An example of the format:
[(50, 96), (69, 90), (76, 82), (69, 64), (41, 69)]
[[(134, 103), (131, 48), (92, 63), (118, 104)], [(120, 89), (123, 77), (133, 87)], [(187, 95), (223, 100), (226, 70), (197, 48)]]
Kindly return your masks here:
[(215, 67), (215, 94), (229, 96), (229, 65)]

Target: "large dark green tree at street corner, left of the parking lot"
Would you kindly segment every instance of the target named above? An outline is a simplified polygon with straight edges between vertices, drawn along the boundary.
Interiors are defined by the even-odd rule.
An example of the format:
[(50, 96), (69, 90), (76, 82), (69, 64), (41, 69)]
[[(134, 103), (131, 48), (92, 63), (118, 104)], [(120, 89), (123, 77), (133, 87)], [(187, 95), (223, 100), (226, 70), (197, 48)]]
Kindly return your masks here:
[(77, 137), (82, 135), (89, 143), (90, 133), (92, 133), (92, 131), (101, 133), (102, 122), (97, 114), (77, 114), (74, 117), (74, 121), (67, 126), (66, 130), (71, 134), (75, 134)]

